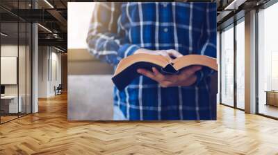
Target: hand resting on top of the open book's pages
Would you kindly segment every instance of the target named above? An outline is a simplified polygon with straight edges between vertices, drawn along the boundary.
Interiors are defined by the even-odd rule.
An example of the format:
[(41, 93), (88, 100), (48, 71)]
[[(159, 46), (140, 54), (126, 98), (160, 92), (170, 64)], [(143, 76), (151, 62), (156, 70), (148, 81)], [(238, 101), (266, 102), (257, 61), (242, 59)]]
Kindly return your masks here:
[(181, 53), (179, 53), (176, 50), (173, 49), (169, 49), (169, 50), (148, 50), (145, 48), (139, 48), (137, 51), (135, 51), (134, 54), (139, 54), (139, 53), (147, 53), (147, 54), (151, 54), (151, 55), (163, 55), (164, 57), (169, 57), (170, 59), (172, 59), (172, 57), (182, 57), (183, 55), (181, 55)]

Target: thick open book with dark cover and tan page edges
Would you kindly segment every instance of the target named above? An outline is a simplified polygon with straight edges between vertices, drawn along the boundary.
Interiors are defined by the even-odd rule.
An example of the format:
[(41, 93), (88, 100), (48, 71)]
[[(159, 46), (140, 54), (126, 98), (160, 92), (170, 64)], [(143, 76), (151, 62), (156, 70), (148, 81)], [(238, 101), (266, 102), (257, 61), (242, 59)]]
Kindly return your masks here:
[(214, 57), (206, 55), (185, 55), (174, 60), (162, 55), (136, 54), (130, 55), (120, 61), (113, 75), (113, 83), (122, 91), (139, 73), (137, 69), (149, 69), (156, 67), (163, 74), (179, 74), (179, 71), (187, 66), (202, 65), (218, 71), (218, 64)]

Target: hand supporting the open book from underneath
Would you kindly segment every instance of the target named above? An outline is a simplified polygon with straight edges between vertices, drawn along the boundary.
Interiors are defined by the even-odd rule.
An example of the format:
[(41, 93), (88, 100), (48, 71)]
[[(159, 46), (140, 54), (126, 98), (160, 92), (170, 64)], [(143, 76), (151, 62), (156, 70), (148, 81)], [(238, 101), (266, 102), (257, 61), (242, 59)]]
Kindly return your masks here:
[(138, 69), (137, 72), (145, 75), (152, 80), (158, 82), (162, 87), (169, 86), (190, 86), (197, 80), (197, 71), (202, 69), (202, 66), (189, 66), (181, 70), (177, 75), (163, 75), (156, 68), (152, 67), (152, 71), (146, 69)]

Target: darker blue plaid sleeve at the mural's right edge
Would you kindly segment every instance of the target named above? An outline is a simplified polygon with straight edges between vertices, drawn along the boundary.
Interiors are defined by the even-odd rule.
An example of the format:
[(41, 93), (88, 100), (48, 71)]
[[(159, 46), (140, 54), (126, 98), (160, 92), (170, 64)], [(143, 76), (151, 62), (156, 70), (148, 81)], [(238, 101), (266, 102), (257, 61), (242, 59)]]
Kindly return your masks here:
[[(203, 37), (206, 38), (206, 42), (202, 44), (201, 49), (197, 51), (198, 55), (207, 55), (209, 57), (216, 58), (216, 6), (215, 3), (207, 3), (206, 6), (206, 21), (204, 24)], [(208, 68), (203, 68), (201, 71), (197, 72), (197, 82), (198, 85), (202, 80), (211, 76), (215, 71)]]

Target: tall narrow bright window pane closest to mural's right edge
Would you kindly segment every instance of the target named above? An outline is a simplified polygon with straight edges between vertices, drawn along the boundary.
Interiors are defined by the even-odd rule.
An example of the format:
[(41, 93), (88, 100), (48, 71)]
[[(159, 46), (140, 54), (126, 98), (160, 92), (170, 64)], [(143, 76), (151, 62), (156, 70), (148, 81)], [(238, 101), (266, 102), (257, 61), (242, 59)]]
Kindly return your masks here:
[(221, 33), (221, 102), (234, 106), (234, 28)]

